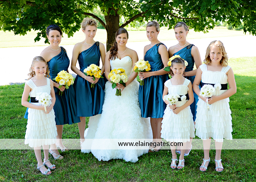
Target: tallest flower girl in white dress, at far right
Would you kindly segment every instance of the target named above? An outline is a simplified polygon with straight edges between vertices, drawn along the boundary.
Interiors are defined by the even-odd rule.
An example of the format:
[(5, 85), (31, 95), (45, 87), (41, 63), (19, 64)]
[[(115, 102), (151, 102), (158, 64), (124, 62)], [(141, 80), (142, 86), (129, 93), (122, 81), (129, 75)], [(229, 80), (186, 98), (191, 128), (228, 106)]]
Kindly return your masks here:
[[(215, 170), (223, 171), (221, 149), (223, 138), (232, 139), (231, 111), (229, 97), (236, 93), (236, 81), (233, 70), (227, 66), (227, 53), (221, 41), (212, 41), (206, 50), (206, 56), (196, 72), (193, 89), (199, 96), (196, 114), (196, 135), (203, 139), (204, 159), (200, 171), (206, 171), (210, 162), (209, 150), (211, 139), (215, 140)], [(199, 83), (212, 85), (215, 92), (211, 98), (200, 94)], [(229, 89), (227, 90), (227, 83)], [(201, 89), (202, 90), (202, 89)]]

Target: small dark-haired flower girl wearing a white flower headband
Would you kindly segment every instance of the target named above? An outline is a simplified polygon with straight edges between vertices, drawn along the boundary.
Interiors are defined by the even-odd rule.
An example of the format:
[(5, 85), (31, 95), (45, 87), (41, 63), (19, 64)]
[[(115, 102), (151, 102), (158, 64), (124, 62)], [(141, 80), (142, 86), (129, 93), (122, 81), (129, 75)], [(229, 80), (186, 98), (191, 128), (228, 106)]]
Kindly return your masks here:
[[(195, 137), (193, 115), (189, 107), (193, 103), (194, 97), (191, 82), (182, 76), (185, 73), (187, 62), (182, 58), (174, 58), (170, 62), (172, 78), (165, 82), (163, 90), (163, 100), (167, 107), (162, 120), (161, 138), (170, 142), (172, 151), (171, 168), (182, 169), (185, 162), (186, 144), (190, 141), (190, 138)], [(168, 65), (170, 64), (168, 63)], [(174, 142), (182, 142), (178, 166), (176, 165), (177, 156)]]

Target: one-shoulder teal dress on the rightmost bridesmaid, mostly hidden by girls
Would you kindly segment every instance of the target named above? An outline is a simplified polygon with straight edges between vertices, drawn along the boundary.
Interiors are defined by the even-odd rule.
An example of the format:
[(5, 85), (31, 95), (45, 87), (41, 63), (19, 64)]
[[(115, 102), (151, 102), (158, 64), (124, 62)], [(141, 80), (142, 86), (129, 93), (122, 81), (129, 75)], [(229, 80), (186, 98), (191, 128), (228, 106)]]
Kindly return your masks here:
[[(184, 60), (186, 60), (188, 62), (188, 66), (185, 69), (185, 72), (187, 71), (192, 71), (194, 64), (195, 64), (195, 60), (193, 58), (193, 56), (191, 55), (191, 49), (192, 47), (195, 46), (193, 44), (188, 45), (187, 47), (184, 47), (183, 49), (181, 49), (180, 51), (174, 53), (173, 55), (180, 55), (180, 57)], [(194, 80), (195, 80), (195, 76), (185, 76), (185, 78), (187, 78), (188, 80), (191, 81), (191, 83), (193, 84)], [(199, 84), (199, 89), (201, 89), (202, 87), (202, 82), (200, 82)], [(190, 105), (191, 108), (191, 112), (193, 114), (193, 120), (196, 120), (196, 104), (198, 102), (198, 96), (196, 95), (196, 93), (193, 91), (194, 94), (194, 102)]]

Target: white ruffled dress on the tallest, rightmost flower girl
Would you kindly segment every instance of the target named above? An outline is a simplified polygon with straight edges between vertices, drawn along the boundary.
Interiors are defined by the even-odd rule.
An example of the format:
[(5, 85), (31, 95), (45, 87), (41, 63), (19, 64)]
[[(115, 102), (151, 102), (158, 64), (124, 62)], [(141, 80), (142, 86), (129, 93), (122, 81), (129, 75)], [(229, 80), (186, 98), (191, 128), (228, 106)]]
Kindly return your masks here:
[[(208, 71), (207, 65), (200, 66), (202, 70), (202, 82), (210, 84), (226, 84), (227, 71), (230, 66), (222, 67), (221, 71)], [(216, 90), (214, 95), (221, 95), (227, 90)], [(196, 113), (196, 136), (201, 139), (213, 138), (217, 142), (223, 142), (223, 138), (232, 139), (232, 118), (229, 108), (229, 98), (219, 100), (210, 105), (210, 111), (207, 104), (199, 98), (197, 102)]]

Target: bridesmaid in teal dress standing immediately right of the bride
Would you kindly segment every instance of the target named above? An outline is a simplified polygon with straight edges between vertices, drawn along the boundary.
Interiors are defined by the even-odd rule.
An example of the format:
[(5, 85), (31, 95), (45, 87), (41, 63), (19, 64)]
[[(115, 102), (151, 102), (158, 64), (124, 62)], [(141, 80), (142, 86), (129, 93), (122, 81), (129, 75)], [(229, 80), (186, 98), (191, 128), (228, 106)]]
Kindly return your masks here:
[[(157, 39), (159, 24), (150, 21), (146, 31), (150, 44), (144, 47), (144, 60), (150, 63), (151, 70), (139, 73), (139, 78), (144, 79), (144, 85), (139, 86), (139, 103), (142, 117), (150, 117), (153, 142), (161, 142), (162, 119), (166, 108), (162, 96), (164, 83), (168, 80), (168, 72), (163, 68), (167, 66), (169, 55), (166, 46)], [(160, 148), (159, 145), (150, 147), (150, 152), (159, 151)]]

